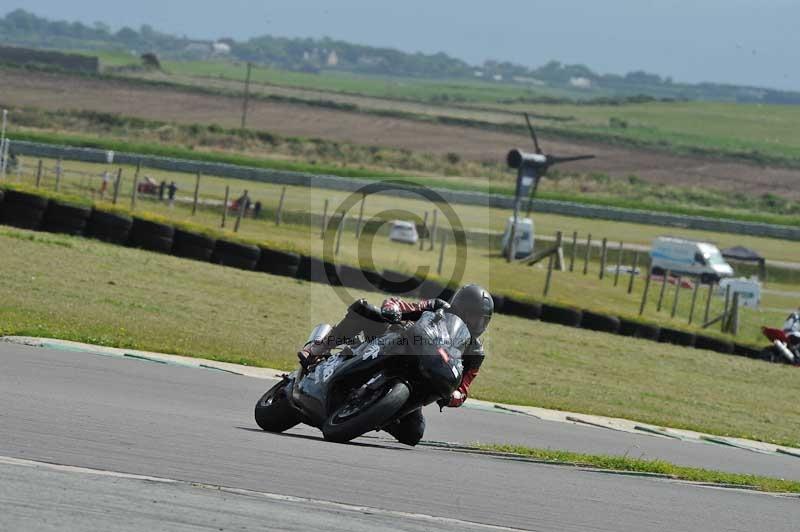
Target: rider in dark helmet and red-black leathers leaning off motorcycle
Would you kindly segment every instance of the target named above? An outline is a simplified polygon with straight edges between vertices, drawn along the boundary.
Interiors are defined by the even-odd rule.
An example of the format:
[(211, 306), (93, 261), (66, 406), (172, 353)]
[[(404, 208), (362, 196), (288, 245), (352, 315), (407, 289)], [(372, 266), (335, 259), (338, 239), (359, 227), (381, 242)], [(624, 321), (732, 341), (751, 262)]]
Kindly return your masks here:
[[(441, 299), (426, 299), (418, 303), (411, 303), (398, 298), (389, 298), (378, 309), (365, 299), (359, 299), (350, 305), (342, 321), (324, 338), (310, 339), (297, 355), (300, 363), (304, 367), (308, 367), (322, 358), (330, 349), (349, 343), (360, 333), (363, 333), (367, 339), (372, 339), (384, 334), (391, 324), (416, 321), (423, 312), (435, 312), (439, 309), (444, 309), (445, 312), (461, 318), (472, 337), (462, 355), (461, 385), (453, 392), (450, 402), (447, 404), (451, 408), (458, 408), (467, 400), (469, 387), (483, 363), (483, 344), (479, 338), (489, 325), (494, 312), (492, 296), (475, 284), (459, 288), (450, 298), (449, 303)], [(397, 438), (400, 443), (416, 445), (425, 432), (425, 417), (422, 415), (421, 409), (415, 410), (395, 424), (386, 427), (385, 430)]]

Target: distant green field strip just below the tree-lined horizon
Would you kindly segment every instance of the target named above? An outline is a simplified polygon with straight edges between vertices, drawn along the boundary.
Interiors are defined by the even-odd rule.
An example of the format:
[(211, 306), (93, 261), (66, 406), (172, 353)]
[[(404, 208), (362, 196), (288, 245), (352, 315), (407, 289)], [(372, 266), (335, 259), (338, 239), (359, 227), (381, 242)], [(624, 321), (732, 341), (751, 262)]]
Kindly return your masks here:
[[(243, 90), (242, 69), (243, 66), (230, 63), (169, 62), (165, 65), (166, 73), (150, 73), (145, 77), (239, 92)], [(511, 103), (514, 98), (524, 97), (525, 90), (463, 81), (437, 86), (418, 80), (384, 81), (341, 74), (315, 76), (261, 68), (253, 72), (255, 94), (328, 99), (366, 110), (515, 126), (522, 125), (520, 115), (527, 112), (540, 126), (562, 134), (571, 131), (595, 134), (598, 138), (606, 136), (652, 147), (668, 146), (677, 151), (709, 150), (720, 154), (761, 154), (800, 160), (800, 134), (794, 127), (800, 119), (797, 106), (714, 102)], [(409, 90), (404, 92), (404, 87)], [(425, 90), (429, 87), (435, 90)], [(383, 90), (376, 90), (378, 88)], [(467, 95), (460, 97), (457, 91), (462, 88)], [(443, 99), (442, 94), (448, 94), (447, 91), (452, 91), (453, 96)]]

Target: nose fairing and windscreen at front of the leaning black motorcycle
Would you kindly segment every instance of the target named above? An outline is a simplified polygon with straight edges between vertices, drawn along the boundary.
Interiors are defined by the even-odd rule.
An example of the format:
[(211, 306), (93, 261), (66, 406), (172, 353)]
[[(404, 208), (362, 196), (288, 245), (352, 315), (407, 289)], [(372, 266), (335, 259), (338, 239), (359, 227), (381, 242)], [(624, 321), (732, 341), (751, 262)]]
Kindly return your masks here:
[(411, 332), (411, 350), (418, 357), (420, 374), (436, 395), (450, 397), (461, 384), (461, 356), (471, 338), (467, 326), (454, 314), (437, 317), (426, 312)]

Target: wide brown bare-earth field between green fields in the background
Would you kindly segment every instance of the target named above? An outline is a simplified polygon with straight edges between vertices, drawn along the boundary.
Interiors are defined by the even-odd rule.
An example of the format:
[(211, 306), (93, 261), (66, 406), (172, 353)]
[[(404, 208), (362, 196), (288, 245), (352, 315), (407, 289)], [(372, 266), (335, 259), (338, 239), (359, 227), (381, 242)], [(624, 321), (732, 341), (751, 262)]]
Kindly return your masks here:
[[(63, 74), (0, 71), (0, 105), (43, 109), (91, 109), (182, 123), (217, 123), (238, 127), (239, 98), (194, 94), (124, 81), (76, 78)], [(253, 101), (251, 128), (281, 135), (320, 137), (356, 144), (392, 146), (413, 151), (458, 153), (472, 160), (498, 160), (509, 148), (527, 148), (522, 135), (424, 124), (304, 105)], [(13, 117), (12, 117), (13, 120)], [(639, 151), (543, 138), (560, 155), (595, 153), (595, 160), (572, 164), (576, 171), (638, 175), (656, 183), (724, 188), (743, 193), (772, 192), (800, 199), (800, 170), (762, 168), (710, 158)], [(566, 168), (566, 167), (565, 167)]]

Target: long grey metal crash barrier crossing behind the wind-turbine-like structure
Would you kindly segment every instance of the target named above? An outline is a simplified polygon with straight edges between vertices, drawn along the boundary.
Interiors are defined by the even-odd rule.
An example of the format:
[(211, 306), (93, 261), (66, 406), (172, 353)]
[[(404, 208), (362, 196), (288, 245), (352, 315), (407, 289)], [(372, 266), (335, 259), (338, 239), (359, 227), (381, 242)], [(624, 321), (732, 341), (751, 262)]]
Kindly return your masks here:
[[(12, 141), (14, 153), (32, 157), (62, 158), (94, 163), (106, 163), (106, 151), (94, 148), (75, 148), (55, 144), (43, 144), (27, 141)], [(353, 192), (367, 183), (373, 182), (364, 179), (354, 179), (331, 175), (316, 175), (302, 172), (288, 172), (271, 170), (267, 168), (254, 168), (233, 164), (192, 161), (187, 159), (172, 159), (154, 155), (140, 155), (133, 153), (116, 153), (114, 162), (117, 164), (135, 165), (141, 163), (145, 167), (157, 168), (173, 172), (186, 172), (221, 177), (232, 177), (249, 181), (261, 181), (279, 185), (311, 186)], [(408, 186), (406, 190), (393, 188), (385, 193), (392, 196), (419, 198), (419, 187)], [(453, 204), (482, 205), (505, 209), (512, 209), (514, 199), (510, 196), (485, 194), (481, 192), (467, 192), (445, 189), (434, 189), (441, 198)], [(380, 193), (380, 192), (378, 192)], [(620, 209), (602, 205), (587, 205), (568, 201), (534, 200), (533, 210), (541, 213), (560, 214), (564, 216), (577, 216), (580, 218), (598, 218), (617, 222), (631, 222), (647, 225), (660, 225), (666, 227), (681, 227), (721, 233), (734, 233), (739, 235), (761, 236), (779, 238), (784, 240), (800, 240), (800, 227), (772, 225), (757, 222), (743, 222), (734, 220), (721, 220), (703, 216), (684, 216), (636, 209)]]

